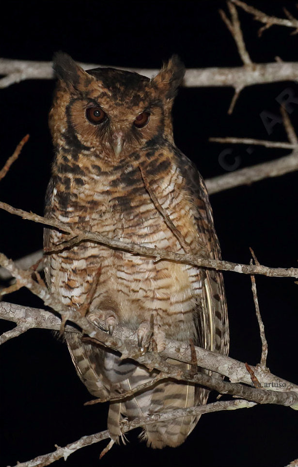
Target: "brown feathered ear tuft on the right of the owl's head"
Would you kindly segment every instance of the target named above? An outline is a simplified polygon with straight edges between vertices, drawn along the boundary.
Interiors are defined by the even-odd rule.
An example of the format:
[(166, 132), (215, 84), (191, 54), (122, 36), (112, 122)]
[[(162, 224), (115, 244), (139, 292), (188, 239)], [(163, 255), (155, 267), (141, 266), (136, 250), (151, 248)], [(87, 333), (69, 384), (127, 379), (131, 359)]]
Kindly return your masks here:
[(152, 81), (157, 84), (157, 87), (165, 94), (167, 99), (173, 99), (176, 96), (178, 86), (183, 81), (184, 74), (184, 64), (178, 55), (173, 55)]

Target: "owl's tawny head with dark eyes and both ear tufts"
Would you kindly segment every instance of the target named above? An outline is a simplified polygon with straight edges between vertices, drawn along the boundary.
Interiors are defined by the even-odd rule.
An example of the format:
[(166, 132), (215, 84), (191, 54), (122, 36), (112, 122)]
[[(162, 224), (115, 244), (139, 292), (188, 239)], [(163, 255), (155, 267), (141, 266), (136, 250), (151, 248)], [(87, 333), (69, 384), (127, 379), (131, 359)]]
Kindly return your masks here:
[(177, 56), (151, 80), (113, 68), (84, 71), (62, 52), (54, 57), (54, 70), (54, 145), (115, 160), (147, 144), (173, 142), (173, 98), (185, 72)]

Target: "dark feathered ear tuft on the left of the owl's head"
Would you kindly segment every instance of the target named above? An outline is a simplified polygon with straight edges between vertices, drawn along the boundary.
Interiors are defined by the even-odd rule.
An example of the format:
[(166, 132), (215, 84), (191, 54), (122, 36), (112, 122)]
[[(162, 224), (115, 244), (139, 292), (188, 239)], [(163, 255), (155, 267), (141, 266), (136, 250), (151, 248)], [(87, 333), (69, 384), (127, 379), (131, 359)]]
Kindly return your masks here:
[(53, 70), (57, 78), (64, 81), (67, 86), (79, 87), (82, 79), (92, 77), (81, 68), (70, 55), (64, 52), (56, 52), (53, 57)]

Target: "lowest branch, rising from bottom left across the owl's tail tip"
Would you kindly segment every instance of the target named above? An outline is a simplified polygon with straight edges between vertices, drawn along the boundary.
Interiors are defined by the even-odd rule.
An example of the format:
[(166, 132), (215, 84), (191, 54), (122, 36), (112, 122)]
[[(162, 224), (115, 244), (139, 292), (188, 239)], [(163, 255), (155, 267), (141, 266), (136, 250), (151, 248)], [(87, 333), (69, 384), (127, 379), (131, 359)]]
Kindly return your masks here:
[[(172, 410), (167, 413), (161, 413), (158, 415), (157, 414), (150, 415), (142, 419), (134, 419), (131, 422), (128, 422), (127, 420), (125, 420), (122, 424), (122, 432), (127, 433), (128, 431), (133, 430), (134, 428), (138, 428), (143, 425), (149, 425), (150, 423), (156, 423), (157, 418), (159, 421), (167, 421), (167, 420), (173, 420), (176, 418), (182, 418), (190, 414), (191, 415), (192, 414), (202, 415), (202, 414), (211, 413), (211, 412), (219, 412), (221, 410), (235, 410), (235, 409), (241, 409), (241, 408), (249, 408), (249, 407), (253, 407), (253, 405), (255, 404), (251, 402), (242, 401), (242, 400), (224, 401), (224, 402), (220, 401), (220, 402), (215, 402), (215, 403), (204, 405), (204, 406)], [(108, 430), (100, 432), (100, 433), (96, 433), (94, 435), (83, 436), (80, 439), (78, 439), (78, 441), (67, 444), (67, 446), (64, 446), (63, 448), (56, 446), (57, 449), (54, 452), (50, 452), (48, 454), (35, 457), (34, 459), (31, 459), (30, 461), (27, 461), (27, 462), (17, 463), (15, 467), (48, 466), (49, 464), (52, 464), (53, 462), (57, 461), (58, 459), (61, 459), (62, 457), (64, 458), (64, 461), (66, 461), (67, 457), (73, 452), (78, 451), (78, 449), (81, 449), (85, 446), (90, 446), (91, 444), (98, 443), (99, 441), (102, 441), (108, 438), (110, 438), (110, 434)]]

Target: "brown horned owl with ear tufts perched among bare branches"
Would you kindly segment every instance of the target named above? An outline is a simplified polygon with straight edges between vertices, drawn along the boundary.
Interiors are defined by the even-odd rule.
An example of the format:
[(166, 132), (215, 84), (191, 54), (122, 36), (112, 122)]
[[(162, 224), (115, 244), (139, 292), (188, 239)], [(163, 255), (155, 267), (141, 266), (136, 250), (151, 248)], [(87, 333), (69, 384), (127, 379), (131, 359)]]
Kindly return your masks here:
[[(65, 53), (56, 54), (54, 70), (58, 83), (49, 126), (55, 158), (47, 217), (109, 239), (219, 259), (204, 181), (173, 140), (171, 111), (185, 72), (179, 58), (173, 56), (151, 80), (113, 68), (84, 71)], [(47, 251), (65, 239), (62, 232), (47, 229)], [(165, 338), (173, 338), (228, 352), (220, 272), (83, 241), (47, 254), (45, 274), (49, 290), (72, 309), (86, 303), (96, 280), (87, 318), (110, 333), (116, 324), (134, 330), (141, 347), (153, 320), (157, 351)], [(115, 398), (157, 374), (131, 360), (120, 361), (116, 352), (82, 341), (78, 334), (66, 333), (65, 340), (79, 378), (96, 398)], [(207, 398), (203, 387), (163, 380), (110, 402), (110, 437), (120, 439), (124, 418), (205, 404)], [(141, 439), (152, 448), (179, 446), (198, 419), (145, 425)]]

